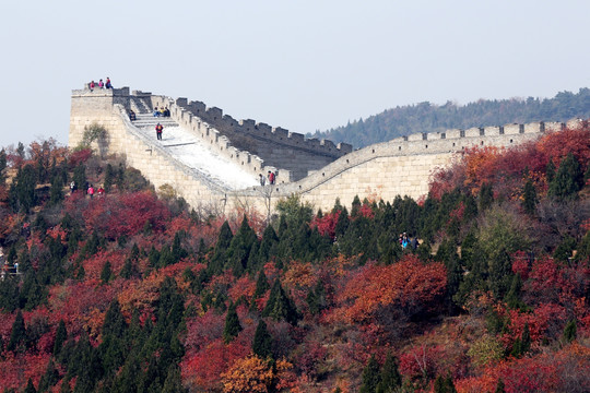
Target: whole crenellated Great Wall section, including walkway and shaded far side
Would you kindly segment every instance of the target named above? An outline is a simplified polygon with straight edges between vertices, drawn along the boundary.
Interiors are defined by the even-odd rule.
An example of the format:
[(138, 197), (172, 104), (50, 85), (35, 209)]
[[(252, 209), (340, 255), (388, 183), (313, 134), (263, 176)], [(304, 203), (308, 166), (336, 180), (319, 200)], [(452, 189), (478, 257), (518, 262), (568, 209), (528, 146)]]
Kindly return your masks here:
[[(168, 107), (170, 117), (153, 118), (155, 107)], [(129, 110), (138, 114), (135, 121), (129, 119)], [(190, 135), (190, 141), (186, 136), (178, 144), (157, 141), (153, 127), (158, 121)], [(106, 129), (95, 142), (101, 154), (125, 155), (128, 165), (139, 169), (156, 189), (173, 187), (192, 207), (220, 212), (253, 206), (269, 213), (278, 200), (292, 194), (322, 210), (331, 209), (337, 198), (350, 205), (355, 195), (385, 201), (397, 195), (417, 199), (427, 193), (433, 170), (449, 165), (465, 147), (517, 145), (565, 127), (560, 122), (534, 122), (418, 133), (353, 151), (350, 144), (305, 139), (255, 120), (237, 121), (220, 108), (187, 98), (130, 92), (129, 87), (91, 91), (84, 86), (72, 91), (69, 145), (78, 146), (93, 123)], [(184, 147), (185, 152), (193, 147), (193, 155), (202, 154), (202, 146), (206, 146), (211, 157), (250, 178), (239, 183), (216, 179), (180, 159), (174, 152), (180, 144), (190, 145)], [(268, 170), (278, 172), (276, 183), (252, 186)]]

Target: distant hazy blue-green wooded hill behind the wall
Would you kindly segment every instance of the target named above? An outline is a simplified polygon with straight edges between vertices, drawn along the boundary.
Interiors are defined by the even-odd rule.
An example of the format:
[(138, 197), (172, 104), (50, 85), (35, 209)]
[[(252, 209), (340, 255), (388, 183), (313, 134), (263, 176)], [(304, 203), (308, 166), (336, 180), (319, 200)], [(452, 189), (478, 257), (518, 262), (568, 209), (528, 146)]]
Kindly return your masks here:
[(312, 138), (352, 143), (354, 147), (385, 142), (416, 132), (442, 132), (448, 129), (503, 126), (533, 121), (566, 121), (590, 118), (590, 88), (577, 94), (560, 92), (553, 98), (480, 99), (459, 106), (428, 102), (398, 106), (393, 109), (349, 122), (328, 131), (316, 131)]

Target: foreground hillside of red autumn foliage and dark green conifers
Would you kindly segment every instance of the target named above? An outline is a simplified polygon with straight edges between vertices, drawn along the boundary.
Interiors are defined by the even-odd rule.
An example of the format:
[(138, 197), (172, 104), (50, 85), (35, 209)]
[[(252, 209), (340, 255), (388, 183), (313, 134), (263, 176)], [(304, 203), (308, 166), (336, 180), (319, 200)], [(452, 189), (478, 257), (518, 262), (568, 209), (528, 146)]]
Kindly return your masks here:
[(87, 148), (3, 150), (0, 391), (588, 392), (589, 167), (586, 124), (269, 224)]

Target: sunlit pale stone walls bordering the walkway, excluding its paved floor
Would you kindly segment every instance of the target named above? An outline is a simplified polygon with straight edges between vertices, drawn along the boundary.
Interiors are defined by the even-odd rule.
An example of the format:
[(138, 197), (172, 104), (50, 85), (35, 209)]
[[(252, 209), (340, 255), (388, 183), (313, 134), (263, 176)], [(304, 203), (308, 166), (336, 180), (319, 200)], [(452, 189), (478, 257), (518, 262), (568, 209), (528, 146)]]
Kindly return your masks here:
[[(381, 198), (386, 201), (392, 201), (397, 195), (417, 199), (427, 193), (432, 172), (438, 167), (448, 165), (458, 152), (468, 146), (518, 145), (565, 127), (557, 122), (535, 122), (448, 130), (430, 134), (417, 133), (374, 144), (335, 160), (332, 158), (331, 163), (322, 165), (298, 181), (290, 182), (288, 180), (293, 180), (296, 176), (281, 169), (279, 179), (283, 181), (275, 186), (231, 191), (177, 162), (160, 144), (145, 138), (126, 116), (126, 110), (133, 107), (168, 106), (173, 118), (181, 127), (208, 142), (217, 154), (234, 159), (236, 165), (255, 175), (261, 169), (266, 171), (272, 167), (258, 155), (233, 146), (223, 132), (188, 110), (186, 108), (188, 104), (180, 104), (150, 93), (133, 92), (129, 95), (127, 87), (113, 91), (73, 91), (69, 144), (73, 147), (80, 143), (84, 127), (93, 122), (99, 123), (107, 129), (102, 146), (97, 146), (103, 153), (125, 155), (128, 165), (139, 169), (156, 188), (163, 184), (172, 186), (192, 207), (206, 207), (221, 213), (240, 206), (270, 213), (276, 201), (292, 194), (299, 194), (303, 201), (322, 210), (331, 209), (337, 198), (343, 204), (350, 205), (355, 195), (361, 199)], [(192, 109), (198, 106), (194, 103), (191, 105)], [(210, 117), (213, 114), (221, 116), (221, 110), (216, 108), (205, 112)], [(244, 124), (253, 123), (243, 122), (243, 127)], [(568, 123), (568, 127), (576, 127), (576, 123)], [(268, 132), (274, 132), (273, 138), (276, 138), (283, 131)], [(283, 135), (286, 135), (290, 143), (294, 143), (298, 138), (294, 139), (291, 135), (290, 139), (285, 133)], [(256, 139), (248, 131), (244, 131), (241, 136), (246, 141)], [(302, 145), (307, 146), (306, 143), (309, 142)], [(327, 148), (329, 143), (322, 146), (320, 150)], [(300, 146), (288, 150), (285, 144), (281, 148), (284, 150), (286, 160), (291, 159), (288, 156), (305, 157)], [(282, 167), (281, 162), (276, 164)]]

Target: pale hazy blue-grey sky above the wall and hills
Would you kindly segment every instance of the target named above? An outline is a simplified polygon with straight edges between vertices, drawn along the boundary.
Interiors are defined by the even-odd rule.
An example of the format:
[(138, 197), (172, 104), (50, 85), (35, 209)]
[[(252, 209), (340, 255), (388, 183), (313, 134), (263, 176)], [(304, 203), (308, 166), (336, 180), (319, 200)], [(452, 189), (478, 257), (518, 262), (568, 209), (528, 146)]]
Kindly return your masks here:
[(68, 141), (70, 96), (187, 97), (295, 132), (398, 105), (590, 86), (590, 1), (5, 1), (0, 145)]

